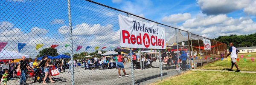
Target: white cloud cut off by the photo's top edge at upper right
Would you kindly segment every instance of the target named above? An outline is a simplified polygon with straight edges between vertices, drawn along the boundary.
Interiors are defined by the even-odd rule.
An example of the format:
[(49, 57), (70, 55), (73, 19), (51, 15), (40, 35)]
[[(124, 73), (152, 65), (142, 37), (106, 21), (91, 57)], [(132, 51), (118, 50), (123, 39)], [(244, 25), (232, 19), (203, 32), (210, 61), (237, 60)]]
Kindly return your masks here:
[(253, 0), (198, 0), (197, 3), (204, 14), (216, 15), (240, 10), (247, 7), (252, 1)]

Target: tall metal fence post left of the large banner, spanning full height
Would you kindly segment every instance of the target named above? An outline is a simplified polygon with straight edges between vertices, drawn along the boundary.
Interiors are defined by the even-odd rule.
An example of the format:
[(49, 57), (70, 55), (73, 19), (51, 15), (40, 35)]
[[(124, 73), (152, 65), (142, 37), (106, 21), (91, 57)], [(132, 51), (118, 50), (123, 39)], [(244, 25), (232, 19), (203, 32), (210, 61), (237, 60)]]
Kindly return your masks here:
[(75, 75), (74, 75), (74, 64), (73, 64), (73, 33), (72, 33), (72, 20), (71, 20), (71, 6), (70, 6), (70, 0), (67, 0), (67, 5), (68, 5), (68, 21), (69, 21), (69, 26), (70, 26), (70, 37), (71, 37), (71, 85), (75, 85)]

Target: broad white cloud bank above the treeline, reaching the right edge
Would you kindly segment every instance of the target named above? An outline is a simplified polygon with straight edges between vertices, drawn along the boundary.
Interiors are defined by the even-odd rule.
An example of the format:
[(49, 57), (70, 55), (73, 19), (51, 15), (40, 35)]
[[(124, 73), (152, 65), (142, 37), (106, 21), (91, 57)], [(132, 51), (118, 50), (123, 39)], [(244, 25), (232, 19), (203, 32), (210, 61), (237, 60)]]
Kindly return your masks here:
[(183, 23), (180, 29), (189, 30), (193, 34), (204, 37), (215, 37), (230, 34), (253, 34), (256, 30), (256, 23), (250, 17), (240, 17), (234, 19), (226, 15), (216, 15), (207, 17), (196, 17)]

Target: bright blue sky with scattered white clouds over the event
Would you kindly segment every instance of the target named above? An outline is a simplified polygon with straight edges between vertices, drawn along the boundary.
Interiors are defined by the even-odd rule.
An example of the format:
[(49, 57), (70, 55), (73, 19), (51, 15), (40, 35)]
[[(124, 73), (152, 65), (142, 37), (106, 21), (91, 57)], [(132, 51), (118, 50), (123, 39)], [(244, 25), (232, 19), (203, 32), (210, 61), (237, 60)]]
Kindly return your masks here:
[[(256, 31), (255, 0), (93, 0), (159, 23), (213, 38), (230, 34), (253, 34)], [(28, 43), (21, 53), (39, 54), (51, 45), (59, 53), (70, 52), (67, 0), (1, 0), (0, 41), (9, 42), (5, 49), (17, 51), (17, 43)], [(123, 12), (85, 0), (71, 0), (73, 50), (119, 46), (118, 14)], [(138, 17), (132, 17), (142, 20)], [(142, 20), (151, 23), (146, 20)], [(155, 23), (153, 23), (155, 24)], [(166, 39), (174, 29), (166, 28)], [(44, 44), (39, 51), (36, 44)], [(86, 46), (92, 46), (85, 50)], [(105, 50), (113, 50), (106, 48)]]

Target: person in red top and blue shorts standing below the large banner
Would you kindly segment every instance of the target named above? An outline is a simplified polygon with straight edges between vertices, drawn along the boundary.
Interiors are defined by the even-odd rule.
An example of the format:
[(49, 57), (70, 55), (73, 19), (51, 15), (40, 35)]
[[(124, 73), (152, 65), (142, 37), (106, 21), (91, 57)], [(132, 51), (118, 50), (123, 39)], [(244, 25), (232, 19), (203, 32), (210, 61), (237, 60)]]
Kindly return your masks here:
[(125, 72), (125, 67), (124, 67), (124, 63), (123, 63), (123, 56), (122, 56), (121, 52), (118, 52), (116, 58), (117, 58), (116, 64), (117, 64), (117, 68), (118, 68), (119, 77), (122, 77), (122, 76), (121, 76), (121, 73), (120, 73), (121, 68), (122, 68), (122, 71), (123, 71), (124, 74), (125, 74), (125, 77), (128, 77), (128, 75), (127, 75), (126, 72)]

